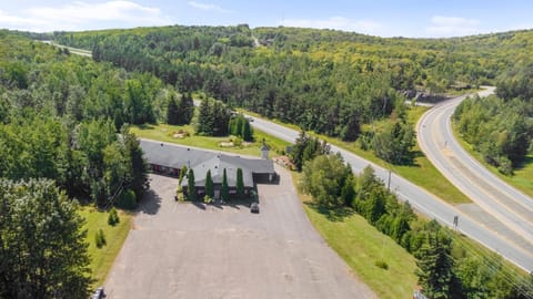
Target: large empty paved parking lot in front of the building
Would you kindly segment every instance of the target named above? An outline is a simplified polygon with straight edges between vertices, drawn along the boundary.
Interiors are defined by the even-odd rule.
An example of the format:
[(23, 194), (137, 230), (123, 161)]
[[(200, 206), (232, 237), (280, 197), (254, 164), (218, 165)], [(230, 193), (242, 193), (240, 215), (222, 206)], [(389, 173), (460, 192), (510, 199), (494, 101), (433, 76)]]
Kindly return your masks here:
[(152, 192), (105, 283), (108, 298), (375, 298), (309, 221), (290, 174), (248, 206), (180, 204), (178, 182)]

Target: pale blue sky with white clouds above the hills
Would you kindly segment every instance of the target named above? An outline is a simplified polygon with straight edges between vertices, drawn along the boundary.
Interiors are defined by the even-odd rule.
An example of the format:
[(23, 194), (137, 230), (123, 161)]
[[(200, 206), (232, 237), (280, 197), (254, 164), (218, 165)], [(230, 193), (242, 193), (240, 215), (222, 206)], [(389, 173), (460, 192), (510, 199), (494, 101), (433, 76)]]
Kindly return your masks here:
[(532, 29), (532, 14), (531, 0), (1, 0), (0, 28), (51, 32), (248, 23), (445, 38)]

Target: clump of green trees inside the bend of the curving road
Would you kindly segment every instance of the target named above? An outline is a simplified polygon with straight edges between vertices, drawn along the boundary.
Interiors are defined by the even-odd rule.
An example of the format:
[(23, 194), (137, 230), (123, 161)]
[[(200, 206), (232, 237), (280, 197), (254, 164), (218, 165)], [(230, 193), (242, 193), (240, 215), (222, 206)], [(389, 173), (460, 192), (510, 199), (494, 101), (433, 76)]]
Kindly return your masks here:
[(463, 101), (453, 118), (462, 137), (506, 175), (533, 153), (533, 62), (519, 61), (496, 83), (496, 95)]

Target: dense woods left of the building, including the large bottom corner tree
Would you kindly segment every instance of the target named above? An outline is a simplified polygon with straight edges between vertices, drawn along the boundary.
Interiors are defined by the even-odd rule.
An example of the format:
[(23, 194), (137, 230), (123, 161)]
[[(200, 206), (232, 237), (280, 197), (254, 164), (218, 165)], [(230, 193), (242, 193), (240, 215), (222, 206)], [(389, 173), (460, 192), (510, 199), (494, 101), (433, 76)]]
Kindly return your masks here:
[(147, 165), (127, 123), (173, 87), (0, 31), (0, 297), (87, 298), (82, 203), (134, 208)]

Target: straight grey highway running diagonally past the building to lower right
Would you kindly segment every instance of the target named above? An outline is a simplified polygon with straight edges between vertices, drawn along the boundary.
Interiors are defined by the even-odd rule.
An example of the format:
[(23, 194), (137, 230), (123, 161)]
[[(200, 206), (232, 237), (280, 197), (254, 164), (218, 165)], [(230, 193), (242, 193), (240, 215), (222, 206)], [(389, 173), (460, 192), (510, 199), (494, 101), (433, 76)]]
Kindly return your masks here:
[[(250, 115), (247, 116), (251, 117)], [(268, 134), (289, 142), (294, 142), (298, 138), (299, 132), (295, 130), (284, 127), (263, 118), (253, 117), (253, 120), (252, 125)], [(383, 179), (383, 182), (388, 183), (390, 175), (391, 189), (396, 192), (398, 197), (401, 200), (409, 200), (413, 208), (426, 215), (429, 218), (434, 218), (443, 225), (453, 227), (453, 218), (454, 216), (459, 216), (460, 223), (457, 229), (461, 233), (499, 252), (505, 259), (524, 270), (529, 272), (533, 270), (533, 246), (527, 247), (527, 245), (522, 245), (520, 241), (510, 241), (509, 238), (504, 237), (507, 231), (492, 229), (486, 226), (486, 219), (490, 218), (490, 216), (484, 217), (484, 219), (472, 217), (471, 214), (443, 202), (439, 197), (412, 184), (405, 178), (394, 173), (391, 174), (388, 169), (365, 161), (349, 151), (334, 145), (331, 145), (331, 150), (340, 153), (344, 159), (350, 163), (355, 173), (360, 173), (364, 167), (371, 165), (375, 169), (375, 174)], [(475, 215), (483, 215), (483, 212), (476, 212)], [(497, 220), (491, 219), (490, 223), (497, 223)]]

